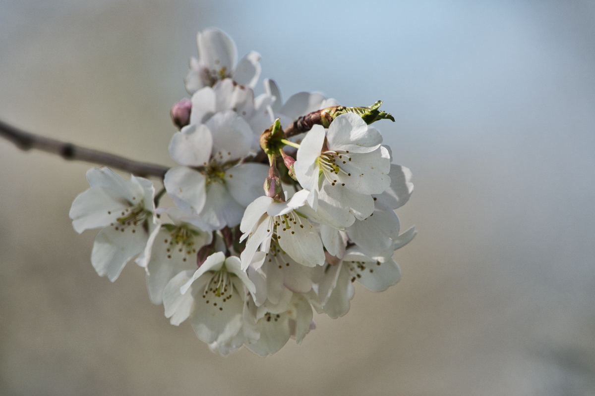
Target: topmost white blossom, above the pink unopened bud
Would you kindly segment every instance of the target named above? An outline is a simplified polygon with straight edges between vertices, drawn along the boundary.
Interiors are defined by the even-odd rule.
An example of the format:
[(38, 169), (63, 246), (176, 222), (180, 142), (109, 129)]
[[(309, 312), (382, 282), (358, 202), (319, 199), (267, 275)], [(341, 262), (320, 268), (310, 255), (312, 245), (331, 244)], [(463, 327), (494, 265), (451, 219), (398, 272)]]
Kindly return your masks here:
[(233, 78), (240, 85), (256, 86), (261, 73), (260, 54), (249, 52), (236, 65), (236, 45), (223, 31), (206, 28), (196, 36), (198, 59), (190, 58), (190, 71), (184, 79), (186, 90), (193, 94), (202, 87), (212, 87), (224, 78)]

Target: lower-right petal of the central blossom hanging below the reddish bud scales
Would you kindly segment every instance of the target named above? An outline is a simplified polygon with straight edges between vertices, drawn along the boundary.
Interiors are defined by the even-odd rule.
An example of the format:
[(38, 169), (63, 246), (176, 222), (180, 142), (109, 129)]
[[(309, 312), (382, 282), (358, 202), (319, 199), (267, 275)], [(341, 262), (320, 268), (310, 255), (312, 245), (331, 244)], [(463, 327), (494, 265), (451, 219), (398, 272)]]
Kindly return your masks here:
[[(296, 214), (293, 216), (299, 217)], [(312, 223), (304, 218), (297, 219), (297, 224), (291, 224), (290, 229), (283, 230), (282, 226), (277, 226), (277, 242), (281, 249), (306, 267), (324, 264), (320, 236)]]

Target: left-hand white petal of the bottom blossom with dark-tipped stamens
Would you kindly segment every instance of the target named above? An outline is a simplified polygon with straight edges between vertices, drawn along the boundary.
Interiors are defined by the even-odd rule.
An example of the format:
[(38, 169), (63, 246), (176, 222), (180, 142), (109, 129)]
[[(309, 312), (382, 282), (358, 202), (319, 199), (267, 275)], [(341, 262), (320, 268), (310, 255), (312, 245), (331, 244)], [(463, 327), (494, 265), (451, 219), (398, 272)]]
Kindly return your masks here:
[[(180, 287), (185, 284), (194, 271), (187, 270), (183, 271), (169, 281), (165, 289), (163, 290), (163, 306), (165, 308), (165, 317), (171, 318), (170, 323), (174, 326), (180, 325), (181, 322), (185, 321), (192, 311), (192, 305), (194, 303), (193, 293), (180, 293)], [(203, 278), (202, 282), (198, 281), (196, 287), (204, 287), (207, 278)]]

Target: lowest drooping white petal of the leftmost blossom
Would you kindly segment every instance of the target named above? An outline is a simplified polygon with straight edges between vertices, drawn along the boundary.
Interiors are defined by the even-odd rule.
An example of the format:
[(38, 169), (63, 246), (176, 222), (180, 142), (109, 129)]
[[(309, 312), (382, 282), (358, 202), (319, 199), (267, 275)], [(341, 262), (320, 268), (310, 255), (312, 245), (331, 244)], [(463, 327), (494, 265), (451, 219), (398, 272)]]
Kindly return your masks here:
[(112, 282), (118, 278), (124, 265), (143, 251), (149, 238), (140, 224), (125, 227), (124, 232), (115, 227), (106, 227), (98, 233), (91, 252), (91, 264), (95, 271), (100, 276), (107, 275)]

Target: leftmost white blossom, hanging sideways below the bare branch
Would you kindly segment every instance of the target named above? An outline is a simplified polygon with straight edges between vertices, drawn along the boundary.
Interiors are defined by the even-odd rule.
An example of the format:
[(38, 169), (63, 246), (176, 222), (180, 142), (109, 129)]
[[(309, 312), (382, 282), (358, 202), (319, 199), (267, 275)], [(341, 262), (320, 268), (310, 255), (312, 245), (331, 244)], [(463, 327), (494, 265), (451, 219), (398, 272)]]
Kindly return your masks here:
[(126, 181), (107, 167), (90, 169), (87, 180), (91, 188), (74, 199), (70, 218), (78, 233), (102, 228), (93, 243), (91, 264), (113, 282), (158, 227), (155, 188), (150, 180), (130, 176)]

